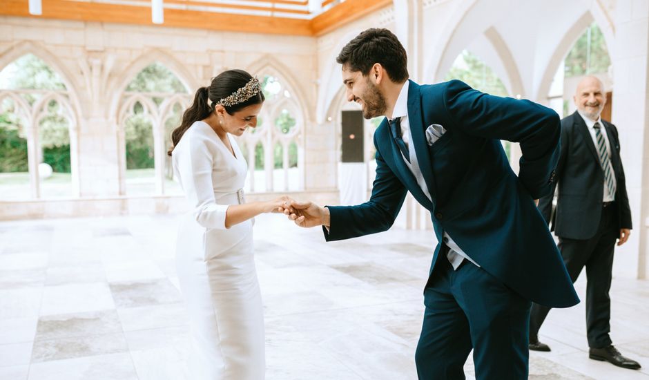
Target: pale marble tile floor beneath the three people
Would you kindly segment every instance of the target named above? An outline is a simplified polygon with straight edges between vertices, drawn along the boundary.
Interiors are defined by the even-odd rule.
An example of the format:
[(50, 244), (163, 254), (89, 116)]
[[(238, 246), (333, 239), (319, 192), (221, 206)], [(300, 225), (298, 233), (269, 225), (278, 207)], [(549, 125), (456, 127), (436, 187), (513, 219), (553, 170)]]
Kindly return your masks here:
[[(191, 380), (174, 216), (0, 222), (0, 380)], [(267, 379), (416, 379), (432, 234), (324, 243), (255, 225)], [(583, 298), (585, 281), (577, 282)], [(649, 380), (649, 282), (614, 278), (612, 338), (642, 370), (588, 359), (583, 304), (553, 310), (530, 379)], [(465, 365), (473, 379), (473, 365)]]

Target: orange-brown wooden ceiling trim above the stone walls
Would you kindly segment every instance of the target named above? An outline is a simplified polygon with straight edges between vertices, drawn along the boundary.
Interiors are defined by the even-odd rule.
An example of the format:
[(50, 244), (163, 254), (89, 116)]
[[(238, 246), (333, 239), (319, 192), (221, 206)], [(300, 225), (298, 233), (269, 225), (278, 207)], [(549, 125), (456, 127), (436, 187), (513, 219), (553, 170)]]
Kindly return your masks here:
[[(151, 21), (150, 1), (142, 1), (142, 5), (126, 6), (108, 2), (42, 0), (43, 15), (40, 16), (30, 15), (28, 0), (0, 1), (0, 15), (8, 16), (300, 36), (324, 35), (392, 3), (391, 0), (347, 0), (308, 19), (306, 17), (310, 13), (307, 0), (248, 0), (240, 5), (220, 3), (217, 0), (165, 0), (164, 3), (171, 7), (164, 8), (164, 23), (158, 25)], [(331, 3), (333, 0), (325, 1)], [(255, 3), (259, 3), (259, 6)], [(278, 7), (276, 4), (281, 5)], [(192, 9), (193, 7), (206, 10)], [(228, 12), (222, 11), (225, 9)], [(254, 15), (255, 12), (268, 12), (268, 15)], [(281, 14), (282, 17), (276, 14)]]

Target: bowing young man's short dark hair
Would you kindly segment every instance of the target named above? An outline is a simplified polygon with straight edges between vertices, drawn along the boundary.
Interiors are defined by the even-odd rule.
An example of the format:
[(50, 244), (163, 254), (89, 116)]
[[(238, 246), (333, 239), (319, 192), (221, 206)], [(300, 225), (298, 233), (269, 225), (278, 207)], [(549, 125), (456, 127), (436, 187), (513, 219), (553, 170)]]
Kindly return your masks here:
[(387, 29), (371, 28), (361, 32), (340, 50), (336, 62), (364, 76), (374, 64), (381, 64), (392, 82), (405, 82), (409, 77), (405, 48)]

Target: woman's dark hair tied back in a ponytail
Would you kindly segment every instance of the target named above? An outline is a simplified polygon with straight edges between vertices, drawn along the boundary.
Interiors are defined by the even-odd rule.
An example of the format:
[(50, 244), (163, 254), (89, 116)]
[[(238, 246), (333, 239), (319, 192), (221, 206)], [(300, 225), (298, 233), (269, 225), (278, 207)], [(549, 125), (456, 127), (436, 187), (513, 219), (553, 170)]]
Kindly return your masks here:
[[(194, 101), (189, 108), (182, 114), (182, 122), (180, 126), (173, 130), (171, 133), (171, 142), (173, 146), (167, 152), (171, 155), (173, 148), (180, 142), (182, 135), (189, 129), (189, 127), (198, 120), (204, 120), (209, 117), (210, 113), (214, 111), (214, 106), (224, 97), (229, 97), (232, 93), (239, 88), (245, 86), (252, 76), (244, 70), (227, 70), (212, 78), (212, 83), (209, 87), (201, 87), (194, 95)], [(209, 104), (211, 100), (212, 104)], [(245, 102), (235, 104), (234, 106), (224, 107), (225, 111), (232, 115), (242, 108), (251, 106), (252, 104), (260, 104), (264, 102), (264, 94), (260, 91)]]

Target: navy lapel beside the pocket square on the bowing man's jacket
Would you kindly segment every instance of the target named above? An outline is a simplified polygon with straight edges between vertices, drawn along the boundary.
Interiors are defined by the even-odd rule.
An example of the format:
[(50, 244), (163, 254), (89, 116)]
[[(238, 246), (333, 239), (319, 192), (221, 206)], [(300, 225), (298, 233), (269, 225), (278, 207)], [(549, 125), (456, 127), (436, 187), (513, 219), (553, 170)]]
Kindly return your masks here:
[(434, 207), (436, 200), (436, 183), (433, 175), (430, 153), (428, 151), (428, 144), (426, 142), (423, 118), (421, 117), (421, 95), (419, 92), (419, 85), (412, 81), (410, 81), (408, 88), (408, 121), (410, 123), (412, 144), (414, 144), (415, 147), (419, 170), (424, 177)]

